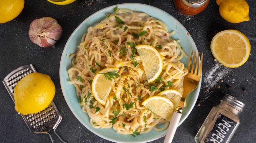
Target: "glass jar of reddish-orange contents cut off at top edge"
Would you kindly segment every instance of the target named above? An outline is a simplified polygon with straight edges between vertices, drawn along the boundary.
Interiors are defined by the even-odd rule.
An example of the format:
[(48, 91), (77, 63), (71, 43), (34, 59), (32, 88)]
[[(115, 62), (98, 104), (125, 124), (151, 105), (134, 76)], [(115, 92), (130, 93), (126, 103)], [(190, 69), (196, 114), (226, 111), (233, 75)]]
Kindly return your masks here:
[(210, 0), (174, 0), (175, 8), (182, 14), (192, 16), (202, 12)]

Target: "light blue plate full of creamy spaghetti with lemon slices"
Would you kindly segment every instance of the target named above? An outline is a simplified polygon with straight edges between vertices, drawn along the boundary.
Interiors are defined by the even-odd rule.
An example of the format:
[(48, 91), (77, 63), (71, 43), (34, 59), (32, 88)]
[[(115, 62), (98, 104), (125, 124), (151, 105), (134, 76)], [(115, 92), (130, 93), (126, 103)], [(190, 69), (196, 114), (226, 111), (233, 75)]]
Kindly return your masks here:
[[(60, 62), (60, 84), (75, 117), (113, 142), (149, 142), (166, 135), (183, 93), (196, 45), (170, 14), (144, 4), (104, 8), (72, 33)], [(200, 90), (186, 98), (179, 125)]]

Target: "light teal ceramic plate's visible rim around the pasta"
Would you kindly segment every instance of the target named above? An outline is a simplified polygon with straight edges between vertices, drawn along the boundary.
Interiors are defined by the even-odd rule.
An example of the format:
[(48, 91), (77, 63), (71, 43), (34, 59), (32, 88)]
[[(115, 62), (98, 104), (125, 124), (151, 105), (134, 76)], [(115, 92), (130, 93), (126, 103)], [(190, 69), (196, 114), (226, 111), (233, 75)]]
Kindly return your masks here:
[[(166, 24), (168, 31), (172, 32), (175, 31), (175, 34), (173, 34), (171, 37), (175, 40), (181, 40), (180, 45), (183, 47), (183, 50), (187, 55), (190, 55), (191, 50), (196, 50), (196, 45), (191, 38), (191, 36), (188, 34), (187, 30), (184, 28), (184, 26), (177, 21), (174, 17), (172, 17), (170, 14), (167, 12), (155, 8), (150, 5), (144, 5), (144, 4), (135, 4), (135, 3), (128, 3), (128, 4), (120, 4), (120, 5), (115, 5), (111, 6), (108, 8), (104, 8), (90, 17), (88, 17), (86, 20), (84, 20), (72, 33), (70, 36), (69, 40), (67, 41), (65, 48), (62, 53), (61, 61), (60, 61), (60, 85), (62, 88), (62, 92), (64, 95), (64, 98), (75, 115), (75, 117), (91, 132), (94, 134), (105, 138), (107, 140), (113, 141), (113, 142), (149, 142), (152, 140), (156, 140), (164, 135), (166, 135), (167, 130), (164, 131), (156, 131), (152, 129), (151, 132), (146, 133), (146, 134), (141, 134), (141, 135), (136, 135), (136, 137), (133, 137), (132, 135), (121, 135), (117, 134), (116, 131), (113, 128), (110, 129), (96, 129), (91, 126), (89, 122), (89, 116), (84, 113), (81, 109), (81, 106), (78, 104), (78, 98), (76, 96), (75, 92), (75, 87), (72, 84), (69, 84), (69, 76), (68, 76), (68, 69), (71, 68), (71, 58), (69, 58), (70, 53), (75, 53), (75, 50), (77, 49), (77, 45), (80, 44), (81, 38), (84, 34), (85, 31), (87, 31), (87, 28), (98, 23), (99, 21), (102, 21), (106, 18), (105, 14), (113, 14), (113, 8), (118, 6), (118, 8), (129, 8), (134, 11), (139, 11), (139, 12), (145, 12), (151, 17), (155, 17), (158, 20), (162, 21), (164, 24)], [(187, 67), (188, 65), (188, 58), (183, 57), (181, 59), (181, 62), (185, 64)], [(187, 101), (187, 107), (184, 108), (183, 114), (181, 116), (181, 120), (179, 125), (188, 117), (190, 114), (191, 110), (193, 109), (198, 95), (199, 95), (199, 90), (201, 87), (201, 81), (196, 90), (194, 90), (190, 95), (188, 95), (186, 101)]]

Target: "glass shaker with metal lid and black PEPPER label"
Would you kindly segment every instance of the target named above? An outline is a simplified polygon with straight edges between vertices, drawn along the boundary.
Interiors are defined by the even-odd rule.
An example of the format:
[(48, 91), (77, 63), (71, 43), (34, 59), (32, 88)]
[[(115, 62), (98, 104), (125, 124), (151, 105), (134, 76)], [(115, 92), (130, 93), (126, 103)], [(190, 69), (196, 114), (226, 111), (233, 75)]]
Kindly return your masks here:
[(195, 141), (197, 143), (228, 143), (240, 124), (238, 115), (244, 107), (244, 103), (226, 94), (220, 105), (211, 109)]

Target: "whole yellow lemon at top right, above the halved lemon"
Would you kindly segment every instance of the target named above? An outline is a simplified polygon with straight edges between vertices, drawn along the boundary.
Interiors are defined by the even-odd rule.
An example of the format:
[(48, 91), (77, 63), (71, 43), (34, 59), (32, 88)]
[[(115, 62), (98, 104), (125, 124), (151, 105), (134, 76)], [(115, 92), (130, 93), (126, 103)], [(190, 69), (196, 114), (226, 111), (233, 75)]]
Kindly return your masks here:
[(245, 0), (216, 0), (221, 16), (228, 22), (249, 21), (249, 6)]

